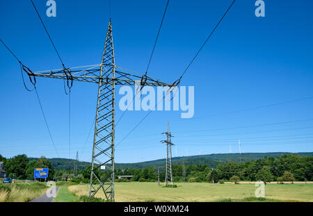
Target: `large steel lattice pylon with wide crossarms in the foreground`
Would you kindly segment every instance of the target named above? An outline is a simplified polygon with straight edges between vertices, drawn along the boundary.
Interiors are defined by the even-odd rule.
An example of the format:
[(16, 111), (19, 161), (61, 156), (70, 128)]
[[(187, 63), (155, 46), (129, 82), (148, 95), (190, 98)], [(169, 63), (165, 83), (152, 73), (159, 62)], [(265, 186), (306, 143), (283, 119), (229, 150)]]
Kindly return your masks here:
[[(121, 69), (115, 65), (111, 20), (106, 32), (101, 64), (35, 73), (23, 68), (29, 78), (33, 78), (33, 84), (36, 76), (64, 79), (67, 83), (82, 81), (98, 84), (89, 197), (94, 197), (102, 189), (107, 201), (114, 201), (115, 85), (138, 85), (140, 82), (141, 86), (167, 86), (170, 89), (176, 86), (175, 83), (164, 83), (146, 75), (129, 74), (116, 68)], [(96, 169), (106, 170), (106, 177), (100, 178)]]

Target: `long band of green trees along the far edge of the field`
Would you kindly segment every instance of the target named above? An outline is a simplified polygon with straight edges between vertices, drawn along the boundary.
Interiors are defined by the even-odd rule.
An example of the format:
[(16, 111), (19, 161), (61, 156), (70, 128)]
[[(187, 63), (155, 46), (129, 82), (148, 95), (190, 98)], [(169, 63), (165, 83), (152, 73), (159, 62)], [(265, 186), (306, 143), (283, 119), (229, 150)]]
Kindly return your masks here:
[[(33, 170), (36, 167), (49, 168), (49, 178), (56, 181), (64, 181), (69, 178), (74, 179), (73, 169), (54, 170), (53, 165), (45, 157), (38, 160), (29, 160), (26, 155), (15, 156), (10, 159), (0, 155), (0, 161), (5, 162), (4, 169), (8, 176), (15, 178), (33, 178)], [(183, 162), (182, 162), (183, 163)], [(164, 165), (165, 167), (165, 165)], [(79, 170), (77, 179), (89, 183), (91, 166)], [(95, 170), (95, 174), (100, 179), (106, 178), (109, 174), (105, 171)], [(175, 182), (211, 182), (223, 183), (225, 181), (313, 181), (313, 157), (298, 156), (287, 154), (277, 157), (264, 157), (258, 160), (247, 161), (244, 163), (220, 163), (216, 168), (209, 165), (183, 165), (176, 163), (172, 166), (172, 175)], [(118, 179), (118, 176), (133, 176), (130, 180), (126, 178)], [(126, 168), (115, 169), (116, 181), (164, 181), (166, 172), (153, 167), (142, 169)]]

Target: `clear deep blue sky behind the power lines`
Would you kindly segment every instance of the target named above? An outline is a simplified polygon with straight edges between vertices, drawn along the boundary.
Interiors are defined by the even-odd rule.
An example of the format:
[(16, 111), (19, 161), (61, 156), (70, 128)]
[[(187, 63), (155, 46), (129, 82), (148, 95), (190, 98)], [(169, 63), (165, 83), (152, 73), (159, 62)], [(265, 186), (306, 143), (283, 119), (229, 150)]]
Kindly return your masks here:
[[(230, 2), (170, 1), (148, 75), (175, 81)], [(34, 3), (67, 67), (100, 63), (108, 1), (56, 0), (56, 17), (45, 15), (46, 1)], [(111, 3), (116, 65), (145, 72), (165, 6), (166, 0)], [(265, 1), (265, 17), (255, 17), (255, 1), (237, 0), (182, 79), (181, 85), (195, 86), (194, 117), (153, 112), (116, 147), (115, 161), (164, 158), (159, 141), (167, 122), (175, 135), (173, 156), (228, 153), (230, 144), (236, 153), (239, 139), (243, 152), (313, 151), (313, 98), (307, 99), (313, 96), (312, 6), (309, 0)], [(1, 1), (0, 8), (0, 38), (25, 65), (34, 72), (61, 67), (30, 1)], [(3, 46), (0, 59), (0, 154), (56, 157), (35, 92), (24, 89), (19, 65)], [(79, 151), (80, 160), (90, 161), (97, 85), (73, 85), (70, 156), (63, 82), (38, 78), (37, 88), (60, 156)], [(125, 113), (116, 142), (145, 115)]]

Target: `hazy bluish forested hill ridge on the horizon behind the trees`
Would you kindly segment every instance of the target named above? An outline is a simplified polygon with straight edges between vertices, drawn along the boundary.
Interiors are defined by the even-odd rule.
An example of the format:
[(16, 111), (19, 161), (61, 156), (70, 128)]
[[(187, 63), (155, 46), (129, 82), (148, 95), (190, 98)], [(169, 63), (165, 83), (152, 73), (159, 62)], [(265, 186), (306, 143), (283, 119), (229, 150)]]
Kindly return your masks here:
[[(172, 158), (173, 165), (181, 165), (184, 160), (185, 165), (208, 165), (209, 167), (216, 167), (219, 163), (228, 162), (246, 162), (250, 160), (257, 160), (266, 157), (277, 157), (284, 154), (290, 154), (290, 152), (268, 152), (268, 153), (212, 153), (202, 156), (187, 156), (187, 157), (175, 157)], [(295, 153), (299, 156), (313, 156), (313, 152), (300, 152)], [(30, 160), (37, 160), (38, 158), (30, 158)], [(54, 165), (55, 169), (74, 169), (73, 159), (66, 158), (49, 158), (49, 161)], [(136, 168), (141, 169), (145, 167), (153, 167), (154, 169), (164, 169), (166, 159), (151, 160), (140, 163), (115, 163), (117, 169)], [(89, 162), (79, 161), (78, 169), (84, 169), (90, 165)]]

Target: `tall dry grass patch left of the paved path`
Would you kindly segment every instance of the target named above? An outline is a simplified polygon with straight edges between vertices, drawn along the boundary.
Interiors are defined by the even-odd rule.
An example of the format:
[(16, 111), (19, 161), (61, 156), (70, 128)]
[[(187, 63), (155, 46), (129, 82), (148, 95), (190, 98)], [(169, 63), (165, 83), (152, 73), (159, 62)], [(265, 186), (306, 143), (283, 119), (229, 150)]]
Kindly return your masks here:
[(31, 201), (47, 191), (45, 183), (0, 184), (0, 202)]

